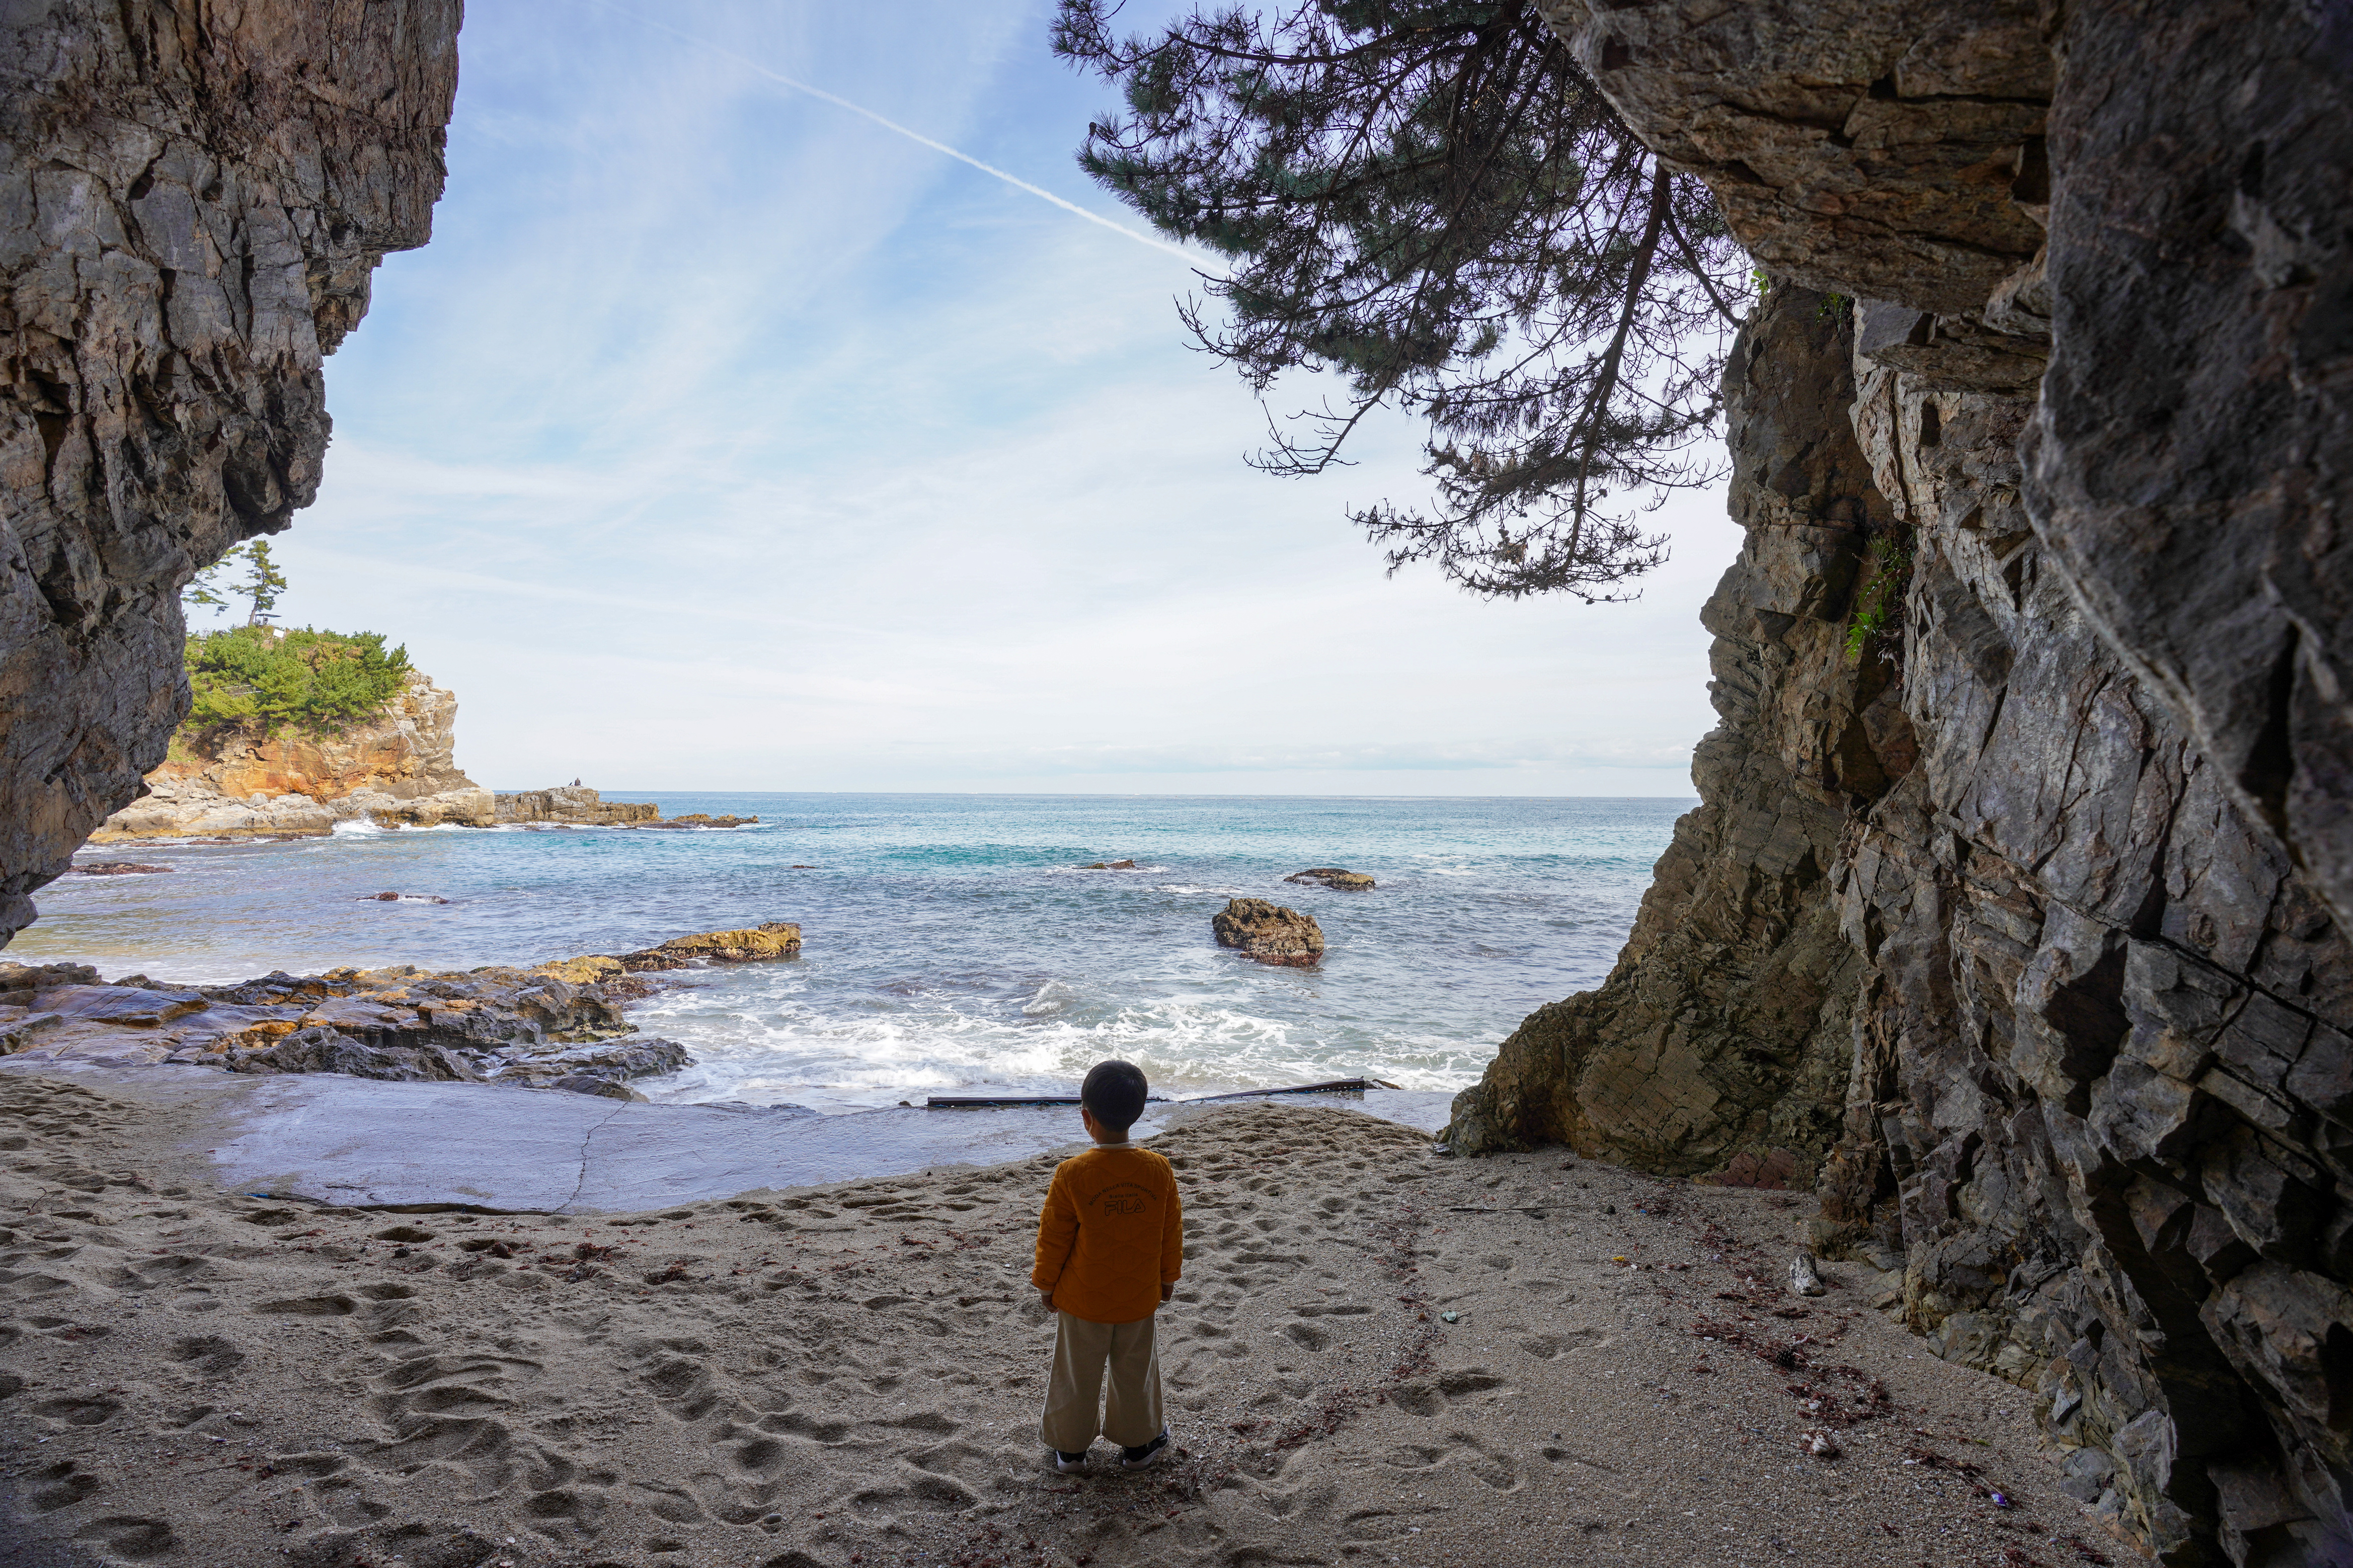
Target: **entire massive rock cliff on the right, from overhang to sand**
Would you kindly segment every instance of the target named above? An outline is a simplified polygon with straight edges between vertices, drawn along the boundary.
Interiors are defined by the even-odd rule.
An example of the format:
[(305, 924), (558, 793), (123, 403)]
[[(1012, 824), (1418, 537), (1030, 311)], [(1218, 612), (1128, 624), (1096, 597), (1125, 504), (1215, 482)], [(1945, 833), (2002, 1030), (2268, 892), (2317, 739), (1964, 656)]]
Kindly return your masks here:
[(1701, 806), (1449, 1140), (1814, 1168), (2160, 1561), (2353, 1561), (2353, 31), (1544, 14), (1774, 287)]

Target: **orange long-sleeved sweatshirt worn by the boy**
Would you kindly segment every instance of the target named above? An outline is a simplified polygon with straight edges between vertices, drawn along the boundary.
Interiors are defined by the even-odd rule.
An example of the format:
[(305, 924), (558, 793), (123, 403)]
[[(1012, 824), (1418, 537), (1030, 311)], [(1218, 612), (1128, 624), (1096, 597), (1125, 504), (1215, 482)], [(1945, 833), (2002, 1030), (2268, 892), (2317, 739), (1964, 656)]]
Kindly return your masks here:
[(1031, 1284), (1089, 1324), (1139, 1324), (1184, 1274), (1176, 1173), (1151, 1150), (1094, 1147), (1054, 1166)]

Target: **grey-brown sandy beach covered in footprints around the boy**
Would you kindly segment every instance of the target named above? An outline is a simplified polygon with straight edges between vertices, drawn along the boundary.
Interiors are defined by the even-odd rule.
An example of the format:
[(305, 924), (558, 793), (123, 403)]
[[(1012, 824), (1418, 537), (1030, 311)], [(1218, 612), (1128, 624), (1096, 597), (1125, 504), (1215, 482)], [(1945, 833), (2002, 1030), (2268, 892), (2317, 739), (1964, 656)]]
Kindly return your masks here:
[(1788, 1295), (1793, 1194), (1186, 1112), (1179, 1460), (1073, 1479), (1052, 1154), (553, 1218), (240, 1197), (202, 1133), (0, 1077), (0, 1563), (2144, 1561), (1875, 1276)]

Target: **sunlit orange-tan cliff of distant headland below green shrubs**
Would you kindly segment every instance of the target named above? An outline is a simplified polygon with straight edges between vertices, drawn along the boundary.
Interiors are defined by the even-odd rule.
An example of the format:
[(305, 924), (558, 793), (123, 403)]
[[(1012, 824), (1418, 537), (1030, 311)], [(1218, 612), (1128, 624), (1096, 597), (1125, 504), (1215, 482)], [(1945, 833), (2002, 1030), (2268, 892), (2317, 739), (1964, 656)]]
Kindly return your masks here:
[(492, 795), (454, 752), (456, 696), (412, 670), (384, 712), (334, 729), (181, 731), (148, 795), (89, 842), (315, 837), (336, 823), (487, 827)]

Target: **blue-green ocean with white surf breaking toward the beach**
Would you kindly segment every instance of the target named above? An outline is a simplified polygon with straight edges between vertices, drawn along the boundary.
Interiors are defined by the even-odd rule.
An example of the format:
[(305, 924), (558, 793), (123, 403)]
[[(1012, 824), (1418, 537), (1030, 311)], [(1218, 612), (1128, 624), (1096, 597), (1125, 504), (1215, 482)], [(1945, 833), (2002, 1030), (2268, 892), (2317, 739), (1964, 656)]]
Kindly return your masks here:
[[(927, 1093), (1068, 1093), (1125, 1056), (1158, 1093), (1377, 1077), (1475, 1081), (1525, 1013), (1617, 961), (1678, 799), (628, 795), (725, 832), (372, 830), (282, 844), (134, 844), (66, 877), (19, 961), (221, 983), (344, 964), (471, 969), (802, 924), (802, 957), (696, 971), (633, 1013), (694, 1065), (656, 1100), (826, 1112)], [(1085, 872), (1087, 860), (1134, 872)], [(1372, 893), (1289, 886), (1344, 865)], [(379, 903), (379, 891), (433, 903)], [(1320, 969), (1217, 947), (1228, 898), (1325, 931)]]

